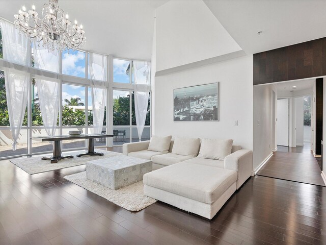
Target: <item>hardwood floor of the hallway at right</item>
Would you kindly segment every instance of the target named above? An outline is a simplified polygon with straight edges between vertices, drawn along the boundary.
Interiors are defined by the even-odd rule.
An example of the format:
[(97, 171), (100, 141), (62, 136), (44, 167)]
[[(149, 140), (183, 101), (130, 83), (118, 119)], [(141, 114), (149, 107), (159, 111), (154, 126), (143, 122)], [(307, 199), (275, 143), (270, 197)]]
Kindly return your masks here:
[(278, 145), (273, 154), (257, 175), (325, 186), (310, 143), (296, 147)]

